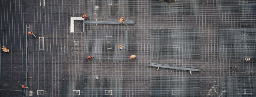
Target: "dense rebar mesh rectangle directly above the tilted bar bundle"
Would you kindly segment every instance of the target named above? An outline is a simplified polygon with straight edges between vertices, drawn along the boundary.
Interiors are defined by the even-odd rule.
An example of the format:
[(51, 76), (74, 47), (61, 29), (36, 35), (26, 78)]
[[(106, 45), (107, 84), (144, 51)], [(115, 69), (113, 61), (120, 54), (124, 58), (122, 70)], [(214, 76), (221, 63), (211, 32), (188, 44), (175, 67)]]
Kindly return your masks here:
[(199, 29), (151, 29), (150, 57), (199, 58)]

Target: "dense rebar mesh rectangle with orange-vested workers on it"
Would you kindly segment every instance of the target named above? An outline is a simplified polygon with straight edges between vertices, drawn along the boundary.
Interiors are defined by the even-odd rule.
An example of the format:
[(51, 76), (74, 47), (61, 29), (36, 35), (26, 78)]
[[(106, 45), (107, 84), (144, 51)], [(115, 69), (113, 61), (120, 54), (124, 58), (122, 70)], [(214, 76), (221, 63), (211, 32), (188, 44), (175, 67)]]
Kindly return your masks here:
[[(135, 31), (91, 30), (85, 31), (85, 55), (92, 56), (92, 61), (130, 60), (136, 52)], [(122, 45), (126, 50), (119, 50)], [(85, 57), (85, 61), (87, 61)], [(89, 61), (89, 60), (88, 60)]]

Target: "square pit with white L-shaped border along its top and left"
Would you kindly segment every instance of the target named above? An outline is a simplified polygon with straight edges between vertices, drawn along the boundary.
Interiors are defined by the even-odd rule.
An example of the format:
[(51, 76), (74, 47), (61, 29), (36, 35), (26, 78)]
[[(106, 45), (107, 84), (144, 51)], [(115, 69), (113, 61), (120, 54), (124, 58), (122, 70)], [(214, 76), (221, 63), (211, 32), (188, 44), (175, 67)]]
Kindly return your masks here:
[[(80, 28), (80, 27), (83, 27), (83, 23), (82, 23), (82, 26), (81, 26), (81, 23), (80, 21), (76, 21), (75, 20), (84, 20), (84, 18), (82, 17), (70, 17), (70, 33), (74, 33), (75, 29), (76, 31), (78, 32), (83, 32), (83, 28)], [(75, 24), (76, 23), (76, 24)], [(79, 27), (78, 27), (79, 26)], [(82, 30), (81, 30), (82, 29)]]

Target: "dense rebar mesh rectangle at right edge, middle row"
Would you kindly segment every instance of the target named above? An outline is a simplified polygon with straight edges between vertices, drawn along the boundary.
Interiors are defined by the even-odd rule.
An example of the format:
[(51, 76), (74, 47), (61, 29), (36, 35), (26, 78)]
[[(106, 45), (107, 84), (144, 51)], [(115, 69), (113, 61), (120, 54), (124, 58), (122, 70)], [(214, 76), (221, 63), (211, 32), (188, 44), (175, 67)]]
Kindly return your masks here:
[(255, 28), (220, 28), (220, 58), (255, 58), (255, 32)]

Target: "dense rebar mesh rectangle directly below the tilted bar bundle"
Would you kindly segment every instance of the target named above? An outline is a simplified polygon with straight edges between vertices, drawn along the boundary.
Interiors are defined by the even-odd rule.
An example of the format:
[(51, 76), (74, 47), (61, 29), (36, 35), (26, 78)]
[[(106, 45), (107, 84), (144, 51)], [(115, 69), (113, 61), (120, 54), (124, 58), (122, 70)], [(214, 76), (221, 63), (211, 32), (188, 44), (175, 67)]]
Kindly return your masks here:
[(200, 97), (199, 77), (150, 78), (150, 97)]

